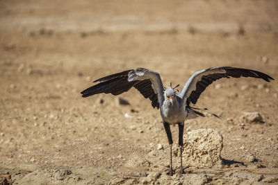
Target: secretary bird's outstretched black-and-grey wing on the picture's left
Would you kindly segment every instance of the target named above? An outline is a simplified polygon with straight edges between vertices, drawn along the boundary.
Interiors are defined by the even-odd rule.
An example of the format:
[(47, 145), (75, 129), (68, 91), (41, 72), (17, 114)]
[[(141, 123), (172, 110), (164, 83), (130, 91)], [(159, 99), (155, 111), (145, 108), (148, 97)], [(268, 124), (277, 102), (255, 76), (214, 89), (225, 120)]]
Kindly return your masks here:
[(159, 109), (163, 101), (163, 83), (161, 77), (159, 73), (149, 69), (137, 68), (122, 71), (121, 73), (99, 78), (94, 82), (99, 83), (82, 91), (83, 97), (101, 93), (118, 95), (129, 91), (131, 87), (135, 87), (145, 98), (152, 100), (152, 107)]

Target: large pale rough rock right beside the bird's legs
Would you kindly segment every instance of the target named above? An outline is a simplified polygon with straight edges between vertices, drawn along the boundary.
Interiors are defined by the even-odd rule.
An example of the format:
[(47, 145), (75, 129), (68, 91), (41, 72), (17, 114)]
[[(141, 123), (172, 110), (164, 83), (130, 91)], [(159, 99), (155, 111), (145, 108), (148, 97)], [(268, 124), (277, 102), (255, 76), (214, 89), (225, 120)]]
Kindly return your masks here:
[(211, 128), (193, 130), (190, 134), (184, 134), (184, 161), (199, 168), (221, 166), (222, 139), (222, 135)]

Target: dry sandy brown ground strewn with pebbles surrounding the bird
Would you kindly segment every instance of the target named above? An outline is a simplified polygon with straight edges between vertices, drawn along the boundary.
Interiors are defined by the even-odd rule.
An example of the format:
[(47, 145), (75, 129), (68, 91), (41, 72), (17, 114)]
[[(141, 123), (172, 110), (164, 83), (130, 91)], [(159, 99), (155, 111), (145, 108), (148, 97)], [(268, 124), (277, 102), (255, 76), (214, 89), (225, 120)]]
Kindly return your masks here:
[[(277, 184), (277, 13), (277, 1), (262, 0), (0, 1), (0, 174), (10, 184)], [(166, 175), (159, 111), (136, 89), (120, 95), (125, 106), (79, 94), (126, 69), (158, 71), (168, 86), (217, 66), (276, 80), (224, 79), (204, 91), (195, 106), (220, 119), (186, 121), (185, 133), (220, 132), (222, 165), (185, 158), (186, 175)], [(264, 123), (244, 123), (243, 112)], [(177, 126), (172, 135), (177, 143)]]

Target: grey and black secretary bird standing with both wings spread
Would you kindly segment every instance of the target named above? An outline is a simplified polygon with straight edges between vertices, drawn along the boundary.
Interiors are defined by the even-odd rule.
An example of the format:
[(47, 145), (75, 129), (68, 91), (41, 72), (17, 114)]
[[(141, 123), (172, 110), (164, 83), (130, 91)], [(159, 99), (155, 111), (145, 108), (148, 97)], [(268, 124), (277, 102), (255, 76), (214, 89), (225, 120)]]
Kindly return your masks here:
[[(211, 67), (193, 73), (193, 75), (186, 81), (183, 89), (178, 91), (172, 87), (163, 87), (161, 76), (156, 71), (151, 71), (144, 68), (130, 69), (120, 73), (114, 73), (103, 78), (99, 78), (94, 82), (96, 85), (81, 91), (82, 97), (93, 96), (95, 94), (113, 94), (114, 96), (129, 91), (132, 87), (140, 91), (140, 94), (152, 101), (152, 107), (160, 110), (163, 126), (167, 135), (167, 140), (170, 147), (170, 169), (168, 175), (173, 175), (172, 168), (172, 132), (170, 125), (179, 125), (179, 152), (180, 152), (180, 167), (177, 173), (184, 173), (182, 164), (183, 152), (183, 128), (184, 121), (197, 116), (204, 116), (202, 112), (206, 109), (199, 109), (192, 107), (190, 104), (196, 104), (202, 92), (211, 85), (212, 82), (220, 78), (240, 78), (252, 77), (261, 78), (266, 82), (274, 80), (260, 71), (252, 69), (243, 69), (237, 67)], [(213, 114), (215, 115), (215, 114)], [(217, 115), (215, 115), (217, 116)]]

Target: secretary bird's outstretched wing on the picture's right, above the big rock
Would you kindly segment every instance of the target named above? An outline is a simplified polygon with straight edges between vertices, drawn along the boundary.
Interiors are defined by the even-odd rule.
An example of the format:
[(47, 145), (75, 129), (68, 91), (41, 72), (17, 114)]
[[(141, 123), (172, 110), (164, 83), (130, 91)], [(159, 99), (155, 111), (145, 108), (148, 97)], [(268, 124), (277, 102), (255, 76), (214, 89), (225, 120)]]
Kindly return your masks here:
[(263, 80), (270, 82), (274, 80), (265, 73), (254, 71), (251, 69), (242, 69), (235, 67), (211, 67), (201, 71), (197, 71), (191, 76), (186, 85), (184, 85), (182, 91), (179, 92), (179, 96), (183, 98), (183, 103), (197, 103), (199, 96), (204, 89), (211, 85), (211, 83), (220, 78), (240, 78), (240, 77), (253, 77), (262, 78)]

